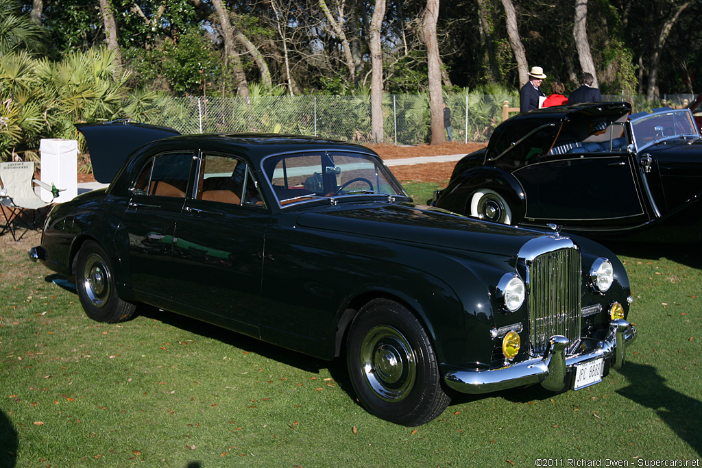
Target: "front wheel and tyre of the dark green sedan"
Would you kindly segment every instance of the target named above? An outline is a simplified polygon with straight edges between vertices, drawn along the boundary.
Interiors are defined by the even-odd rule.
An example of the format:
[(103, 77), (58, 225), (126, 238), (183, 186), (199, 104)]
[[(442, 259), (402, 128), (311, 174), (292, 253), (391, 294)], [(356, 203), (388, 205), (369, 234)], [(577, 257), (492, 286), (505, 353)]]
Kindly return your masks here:
[(351, 382), (369, 413), (418, 426), (449, 406), (432, 342), (397, 302), (376, 299), (365, 305), (351, 325), (346, 351)]

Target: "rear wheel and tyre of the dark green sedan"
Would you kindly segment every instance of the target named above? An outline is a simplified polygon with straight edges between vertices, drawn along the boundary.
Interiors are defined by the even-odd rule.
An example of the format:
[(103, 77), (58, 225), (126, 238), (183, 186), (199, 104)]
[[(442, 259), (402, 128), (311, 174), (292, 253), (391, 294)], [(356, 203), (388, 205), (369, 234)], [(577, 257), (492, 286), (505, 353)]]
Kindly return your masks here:
[(114, 288), (112, 264), (95, 241), (88, 241), (78, 253), (76, 288), (88, 317), (99, 322), (117, 323), (131, 319), (136, 309), (121, 300)]

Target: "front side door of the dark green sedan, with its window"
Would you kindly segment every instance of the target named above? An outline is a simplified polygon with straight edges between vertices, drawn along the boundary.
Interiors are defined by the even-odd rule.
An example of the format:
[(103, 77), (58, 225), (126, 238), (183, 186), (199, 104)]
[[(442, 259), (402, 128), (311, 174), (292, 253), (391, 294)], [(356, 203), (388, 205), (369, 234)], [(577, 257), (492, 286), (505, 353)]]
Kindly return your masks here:
[(242, 159), (203, 152), (195, 179), (173, 240), (178, 312), (258, 337), (270, 214)]

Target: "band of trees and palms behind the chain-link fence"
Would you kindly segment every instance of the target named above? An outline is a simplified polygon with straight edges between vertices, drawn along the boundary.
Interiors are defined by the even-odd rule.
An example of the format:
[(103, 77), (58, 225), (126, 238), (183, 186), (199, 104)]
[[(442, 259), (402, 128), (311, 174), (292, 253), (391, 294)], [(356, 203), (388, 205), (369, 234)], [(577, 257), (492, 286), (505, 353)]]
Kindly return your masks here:
[[(378, 11), (376, 11), (376, 9)], [(175, 97), (702, 88), (702, 0), (0, 0), (0, 153)], [(438, 139), (435, 141), (435, 139)]]

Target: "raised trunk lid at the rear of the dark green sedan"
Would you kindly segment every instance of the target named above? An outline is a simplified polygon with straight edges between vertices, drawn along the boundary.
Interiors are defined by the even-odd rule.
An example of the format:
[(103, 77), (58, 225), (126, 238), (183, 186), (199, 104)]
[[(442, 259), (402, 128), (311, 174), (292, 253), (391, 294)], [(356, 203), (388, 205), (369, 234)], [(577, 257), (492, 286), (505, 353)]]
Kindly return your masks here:
[(180, 135), (173, 128), (125, 120), (105, 123), (77, 123), (88, 145), (95, 180), (112, 182), (117, 171), (135, 149), (152, 141)]

